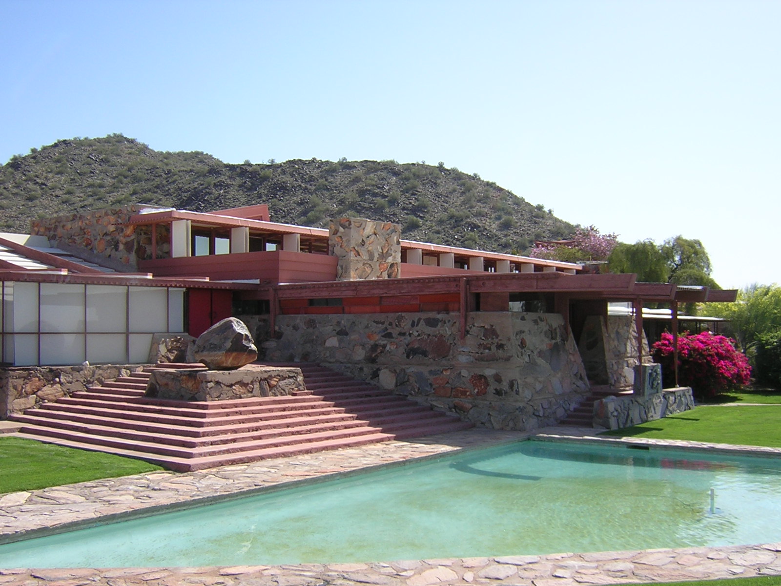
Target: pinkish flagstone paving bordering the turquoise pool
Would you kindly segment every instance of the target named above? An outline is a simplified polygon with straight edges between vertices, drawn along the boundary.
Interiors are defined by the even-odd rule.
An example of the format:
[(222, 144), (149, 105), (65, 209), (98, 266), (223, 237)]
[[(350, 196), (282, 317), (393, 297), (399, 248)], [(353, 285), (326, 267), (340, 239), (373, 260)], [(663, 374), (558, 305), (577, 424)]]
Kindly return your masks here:
[[(317, 452), (293, 458), (222, 466), (188, 473), (166, 471), (81, 482), (38, 491), (0, 495), (0, 543), (28, 531), (87, 526), (98, 517), (116, 519), (172, 509), (194, 502), (215, 502), (251, 494), (263, 487), (350, 473), (371, 466), (437, 456), (461, 448), (482, 448), (528, 437), (509, 431), (472, 429), (411, 441), (389, 441), (359, 448)], [(694, 441), (597, 438), (593, 429), (548, 427), (540, 438), (584, 438), (587, 441), (632, 441), (647, 445), (697, 447), (712, 452), (740, 452), (781, 457), (781, 449), (753, 448)], [(55, 529), (56, 530), (56, 529)], [(2, 566), (2, 559), (0, 559)], [(285, 566), (78, 568), (62, 570), (2, 569), (0, 586), (81, 586), (82, 584), (626, 584), (629, 582), (708, 580), (781, 574), (781, 542), (722, 548), (677, 548), (625, 552), (559, 553), (547, 556), (419, 559), (371, 563)]]

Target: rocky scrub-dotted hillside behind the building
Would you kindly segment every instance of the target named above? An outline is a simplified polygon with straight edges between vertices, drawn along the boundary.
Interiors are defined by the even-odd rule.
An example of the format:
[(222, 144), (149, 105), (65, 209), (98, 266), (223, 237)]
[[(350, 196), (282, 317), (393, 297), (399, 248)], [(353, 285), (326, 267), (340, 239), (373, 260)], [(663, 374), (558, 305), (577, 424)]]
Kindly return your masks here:
[(501, 252), (563, 238), (572, 224), (458, 169), (318, 159), (241, 165), (203, 152), (158, 152), (121, 134), (73, 138), (0, 168), (0, 231), (35, 216), (142, 202), (211, 211), (266, 203), (272, 220), (327, 227), (334, 216), (400, 223), (404, 238)]

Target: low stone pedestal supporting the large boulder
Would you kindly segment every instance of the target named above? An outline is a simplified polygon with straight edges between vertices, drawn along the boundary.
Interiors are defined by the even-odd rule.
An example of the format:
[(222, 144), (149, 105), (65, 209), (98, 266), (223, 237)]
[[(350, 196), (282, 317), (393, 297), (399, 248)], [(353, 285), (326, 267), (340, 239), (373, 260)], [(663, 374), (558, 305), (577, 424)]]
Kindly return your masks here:
[(300, 368), (248, 364), (237, 370), (153, 370), (146, 396), (185, 401), (223, 401), (250, 397), (280, 397), (305, 391)]

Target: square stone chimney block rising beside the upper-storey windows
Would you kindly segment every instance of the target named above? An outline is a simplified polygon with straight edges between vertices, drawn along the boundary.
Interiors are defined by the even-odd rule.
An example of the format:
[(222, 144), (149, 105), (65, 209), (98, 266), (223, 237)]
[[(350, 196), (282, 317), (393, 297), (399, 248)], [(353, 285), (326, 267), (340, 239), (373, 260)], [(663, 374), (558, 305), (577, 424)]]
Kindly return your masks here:
[(362, 218), (330, 220), (328, 254), (338, 259), (337, 280), (398, 277), (401, 227)]

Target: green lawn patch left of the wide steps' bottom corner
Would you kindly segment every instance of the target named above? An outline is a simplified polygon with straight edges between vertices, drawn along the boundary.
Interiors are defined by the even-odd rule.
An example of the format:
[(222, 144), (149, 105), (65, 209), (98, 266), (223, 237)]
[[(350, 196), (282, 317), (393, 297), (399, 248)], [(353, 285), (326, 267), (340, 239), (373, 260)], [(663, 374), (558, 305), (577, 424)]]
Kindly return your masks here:
[(0, 437), (0, 494), (128, 476), (161, 466), (23, 438)]

